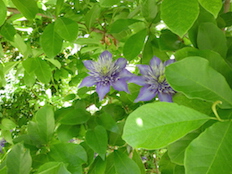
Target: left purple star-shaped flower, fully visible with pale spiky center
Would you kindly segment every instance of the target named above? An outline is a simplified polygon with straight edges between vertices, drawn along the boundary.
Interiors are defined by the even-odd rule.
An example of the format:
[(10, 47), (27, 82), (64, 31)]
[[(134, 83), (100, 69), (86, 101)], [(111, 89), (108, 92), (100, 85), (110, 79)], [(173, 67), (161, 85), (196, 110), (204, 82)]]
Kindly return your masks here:
[(113, 86), (115, 90), (129, 93), (126, 81), (133, 74), (125, 69), (126, 59), (119, 58), (113, 61), (112, 54), (104, 51), (101, 53), (98, 61), (86, 60), (83, 63), (89, 70), (89, 76), (82, 80), (80, 88), (96, 85), (96, 91), (100, 100), (110, 91), (110, 86)]

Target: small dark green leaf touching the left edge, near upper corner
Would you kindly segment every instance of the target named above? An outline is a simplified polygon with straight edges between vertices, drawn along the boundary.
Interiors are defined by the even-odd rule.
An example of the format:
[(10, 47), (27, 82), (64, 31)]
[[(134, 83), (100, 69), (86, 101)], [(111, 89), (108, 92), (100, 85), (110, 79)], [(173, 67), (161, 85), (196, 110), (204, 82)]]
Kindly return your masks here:
[(3, 37), (5, 37), (7, 40), (9, 41), (14, 41), (14, 35), (16, 34), (16, 30), (13, 27), (12, 24), (9, 24), (8, 22), (6, 22), (0, 30), (0, 33)]

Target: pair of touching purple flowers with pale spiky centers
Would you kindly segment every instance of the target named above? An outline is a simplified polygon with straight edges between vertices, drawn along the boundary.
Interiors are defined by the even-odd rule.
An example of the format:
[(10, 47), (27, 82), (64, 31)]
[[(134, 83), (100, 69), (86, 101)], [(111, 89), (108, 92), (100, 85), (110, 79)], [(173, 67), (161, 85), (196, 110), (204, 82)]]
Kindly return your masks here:
[(174, 60), (170, 59), (162, 63), (159, 58), (154, 57), (150, 65), (137, 65), (142, 76), (136, 76), (126, 69), (126, 59), (119, 58), (113, 61), (112, 54), (104, 51), (98, 61), (83, 62), (89, 70), (89, 76), (82, 80), (79, 88), (96, 85), (96, 92), (102, 100), (110, 91), (111, 86), (117, 91), (129, 93), (127, 82), (130, 82), (143, 86), (135, 102), (149, 101), (156, 95), (160, 101), (172, 102), (172, 95), (175, 91), (167, 83), (164, 71), (165, 66), (173, 62)]

